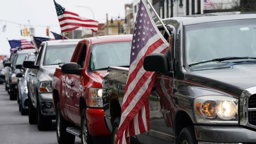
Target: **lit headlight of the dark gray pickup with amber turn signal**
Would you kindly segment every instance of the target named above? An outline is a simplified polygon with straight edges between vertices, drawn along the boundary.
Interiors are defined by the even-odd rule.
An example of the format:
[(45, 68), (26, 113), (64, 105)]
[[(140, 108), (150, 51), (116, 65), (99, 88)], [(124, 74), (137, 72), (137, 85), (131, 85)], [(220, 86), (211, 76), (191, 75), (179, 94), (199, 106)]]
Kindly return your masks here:
[(194, 101), (198, 123), (238, 124), (238, 99), (230, 96), (200, 96)]

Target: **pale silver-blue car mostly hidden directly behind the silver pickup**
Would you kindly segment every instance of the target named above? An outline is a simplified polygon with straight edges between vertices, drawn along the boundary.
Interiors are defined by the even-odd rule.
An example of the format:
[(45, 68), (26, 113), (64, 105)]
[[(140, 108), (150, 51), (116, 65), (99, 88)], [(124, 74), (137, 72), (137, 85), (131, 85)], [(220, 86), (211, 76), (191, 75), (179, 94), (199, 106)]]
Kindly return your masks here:
[[(29, 53), (26, 55), (25, 60), (34, 60), (35, 53)], [(27, 77), (32, 69), (23, 68), (23, 65), (16, 65), (17, 69), (22, 69), (22, 72), (16, 74), (18, 78), (18, 96), (17, 101), (19, 103), (19, 111), (21, 115), (28, 113), (28, 86), (27, 86)]]

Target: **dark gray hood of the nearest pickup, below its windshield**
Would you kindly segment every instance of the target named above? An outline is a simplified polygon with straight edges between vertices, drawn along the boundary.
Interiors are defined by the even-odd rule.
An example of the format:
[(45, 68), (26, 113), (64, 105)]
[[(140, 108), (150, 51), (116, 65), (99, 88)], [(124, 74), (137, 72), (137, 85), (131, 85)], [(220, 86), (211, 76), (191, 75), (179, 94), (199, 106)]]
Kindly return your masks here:
[(232, 65), (222, 68), (189, 71), (185, 78), (241, 95), (256, 86), (256, 64)]

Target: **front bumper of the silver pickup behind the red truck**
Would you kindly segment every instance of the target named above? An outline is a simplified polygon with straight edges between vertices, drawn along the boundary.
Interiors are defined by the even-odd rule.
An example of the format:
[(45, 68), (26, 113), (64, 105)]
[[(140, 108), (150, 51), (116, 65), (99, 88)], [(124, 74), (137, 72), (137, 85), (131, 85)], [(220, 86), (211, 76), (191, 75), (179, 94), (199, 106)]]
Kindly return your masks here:
[(44, 116), (56, 115), (53, 107), (52, 93), (40, 93), (39, 101), (40, 101), (41, 113)]

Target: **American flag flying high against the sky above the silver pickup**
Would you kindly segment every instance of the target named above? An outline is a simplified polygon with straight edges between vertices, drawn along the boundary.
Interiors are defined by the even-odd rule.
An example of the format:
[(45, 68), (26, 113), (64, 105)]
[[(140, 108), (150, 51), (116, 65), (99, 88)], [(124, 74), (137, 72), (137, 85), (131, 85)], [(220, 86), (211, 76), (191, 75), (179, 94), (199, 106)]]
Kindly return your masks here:
[(72, 13), (56, 3), (55, 0), (54, 4), (58, 15), (61, 32), (75, 30), (79, 27), (92, 30), (95, 33), (98, 31), (98, 21), (80, 17), (78, 14)]

